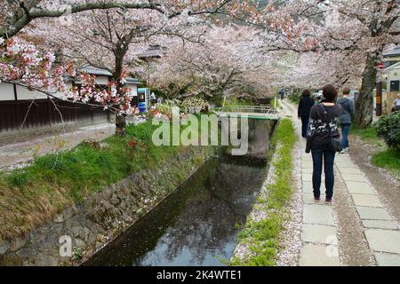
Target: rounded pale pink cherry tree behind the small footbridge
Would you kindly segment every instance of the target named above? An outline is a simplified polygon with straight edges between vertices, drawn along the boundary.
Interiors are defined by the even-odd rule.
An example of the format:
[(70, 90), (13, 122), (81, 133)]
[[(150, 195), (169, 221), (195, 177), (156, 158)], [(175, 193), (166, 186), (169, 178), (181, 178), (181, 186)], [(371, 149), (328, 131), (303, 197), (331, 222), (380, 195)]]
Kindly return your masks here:
[(272, 55), (259, 51), (258, 33), (232, 24), (207, 28), (198, 42), (173, 39), (153, 75), (157, 88), (168, 92), (175, 87), (172, 97), (260, 95), (274, 71)]

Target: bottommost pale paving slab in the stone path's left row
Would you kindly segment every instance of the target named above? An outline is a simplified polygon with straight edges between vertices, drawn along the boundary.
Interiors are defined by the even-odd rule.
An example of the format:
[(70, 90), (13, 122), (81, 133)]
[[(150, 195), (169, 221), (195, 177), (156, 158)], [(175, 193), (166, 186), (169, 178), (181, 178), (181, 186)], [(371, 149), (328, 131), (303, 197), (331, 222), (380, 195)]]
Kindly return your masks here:
[(335, 246), (306, 244), (300, 249), (300, 266), (340, 266)]

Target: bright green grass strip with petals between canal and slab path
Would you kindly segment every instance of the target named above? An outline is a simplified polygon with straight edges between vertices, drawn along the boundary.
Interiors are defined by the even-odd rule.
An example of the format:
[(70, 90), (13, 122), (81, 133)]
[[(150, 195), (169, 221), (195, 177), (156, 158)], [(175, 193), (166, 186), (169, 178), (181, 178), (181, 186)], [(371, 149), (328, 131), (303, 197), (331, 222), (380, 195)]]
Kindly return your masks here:
[[(272, 170), (269, 170), (272, 183), (264, 185), (251, 216), (239, 233), (239, 245), (231, 265), (276, 265), (279, 235), (284, 229), (284, 208), (293, 193), (292, 151), (296, 141), (292, 121), (281, 120), (272, 139), (271, 149), (276, 149), (272, 156)], [(273, 151), (269, 153), (272, 155)]]

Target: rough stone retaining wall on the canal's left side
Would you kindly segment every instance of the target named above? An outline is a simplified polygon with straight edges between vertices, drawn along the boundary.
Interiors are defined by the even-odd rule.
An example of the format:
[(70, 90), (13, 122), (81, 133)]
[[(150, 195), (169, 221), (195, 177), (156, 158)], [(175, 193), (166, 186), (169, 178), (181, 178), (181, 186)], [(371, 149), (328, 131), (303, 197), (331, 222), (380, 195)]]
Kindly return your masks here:
[(217, 147), (181, 148), (152, 170), (140, 171), (92, 195), (83, 204), (65, 209), (26, 237), (0, 242), (0, 265), (82, 263), (219, 152)]

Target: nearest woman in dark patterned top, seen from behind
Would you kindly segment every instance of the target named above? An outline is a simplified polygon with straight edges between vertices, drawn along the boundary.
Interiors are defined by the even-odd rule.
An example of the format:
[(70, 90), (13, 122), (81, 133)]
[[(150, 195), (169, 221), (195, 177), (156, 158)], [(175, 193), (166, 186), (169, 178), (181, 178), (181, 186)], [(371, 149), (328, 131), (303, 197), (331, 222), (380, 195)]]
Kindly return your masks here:
[(337, 123), (341, 114), (341, 106), (336, 104), (338, 91), (332, 84), (324, 86), (323, 95), (324, 99), (321, 103), (311, 108), (306, 152), (311, 152), (313, 156), (315, 201), (318, 202), (321, 200), (321, 176), (324, 162), (325, 202), (331, 203), (334, 185), (333, 163), (336, 154), (331, 146), (331, 138), (340, 137)]

